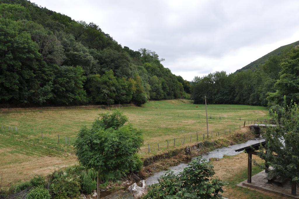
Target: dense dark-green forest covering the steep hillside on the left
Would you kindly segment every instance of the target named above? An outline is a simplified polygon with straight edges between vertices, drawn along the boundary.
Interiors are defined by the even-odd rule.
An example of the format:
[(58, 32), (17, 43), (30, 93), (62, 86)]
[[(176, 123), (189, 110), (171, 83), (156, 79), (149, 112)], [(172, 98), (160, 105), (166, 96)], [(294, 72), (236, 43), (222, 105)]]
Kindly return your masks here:
[(135, 103), (186, 98), (190, 83), (151, 50), (122, 47), (94, 23), (0, 0), (0, 104)]

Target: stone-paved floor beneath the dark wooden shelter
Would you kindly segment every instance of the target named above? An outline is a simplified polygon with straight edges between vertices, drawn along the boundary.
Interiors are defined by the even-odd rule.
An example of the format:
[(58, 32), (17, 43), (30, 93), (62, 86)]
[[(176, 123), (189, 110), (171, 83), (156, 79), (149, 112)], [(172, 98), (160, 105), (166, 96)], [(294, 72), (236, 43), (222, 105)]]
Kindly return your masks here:
[(242, 186), (242, 187), (251, 187), (254, 189), (260, 189), (263, 191), (268, 191), (272, 193), (279, 193), (282, 195), (286, 195), (292, 198), (299, 198), (298, 192), (299, 189), (297, 187), (297, 195), (294, 196), (291, 194), (291, 183), (286, 182), (283, 183), (283, 186), (277, 186), (276, 184), (270, 184), (267, 183), (268, 180), (264, 179), (267, 176), (267, 173), (264, 171), (261, 171), (260, 173), (254, 175), (251, 177), (251, 183), (247, 183), (247, 179), (244, 180), (243, 182), (239, 183), (237, 186)]

